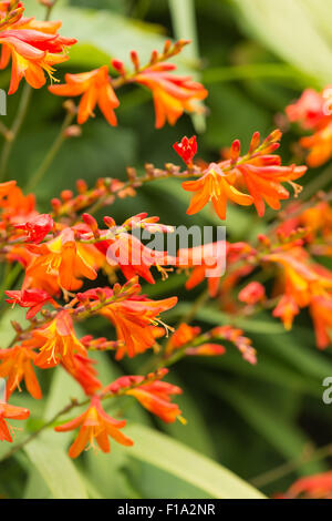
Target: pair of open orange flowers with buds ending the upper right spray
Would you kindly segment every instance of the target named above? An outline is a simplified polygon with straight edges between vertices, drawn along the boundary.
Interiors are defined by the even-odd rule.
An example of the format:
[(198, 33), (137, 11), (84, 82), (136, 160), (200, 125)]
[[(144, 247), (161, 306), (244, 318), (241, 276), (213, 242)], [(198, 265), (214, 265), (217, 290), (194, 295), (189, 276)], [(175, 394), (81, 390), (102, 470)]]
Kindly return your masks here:
[[(307, 172), (307, 166), (281, 166), (280, 156), (272, 154), (279, 147), (281, 135), (276, 130), (260, 144), (260, 135), (256, 132), (245, 156), (240, 156), (240, 142), (236, 140), (230, 149), (230, 159), (211, 163), (201, 177), (184, 182), (186, 191), (196, 192), (187, 214), (196, 214), (210, 201), (217, 215), (225, 219), (227, 201), (230, 200), (242, 206), (253, 203), (262, 217), (266, 203), (279, 210), (280, 201), (289, 198), (290, 194), (281, 183), (290, 183), (298, 195), (302, 188), (293, 181)], [(237, 186), (247, 186), (249, 194), (240, 192)]]

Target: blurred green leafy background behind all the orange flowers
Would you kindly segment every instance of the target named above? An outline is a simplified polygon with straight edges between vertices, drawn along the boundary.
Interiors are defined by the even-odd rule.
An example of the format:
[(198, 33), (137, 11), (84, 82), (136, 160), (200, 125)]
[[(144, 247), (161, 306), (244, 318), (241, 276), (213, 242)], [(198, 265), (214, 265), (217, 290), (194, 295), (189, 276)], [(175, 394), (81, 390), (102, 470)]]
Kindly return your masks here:
[[(42, 17), (43, 8), (37, 1), (24, 3), (28, 14)], [(283, 157), (294, 160), (292, 144), (298, 135), (294, 129), (287, 126), (282, 115), (284, 106), (307, 86), (320, 89), (332, 83), (331, 0), (59, 0), (52, 18), (63, 21), (62, 34), (79, 39), (71, 60), (59, 68), (58, 78), (62, 79), (65, 72), (100, 67), (111, 58), (128, 62), (132, 49), (138, 51), (144, 62), (153, 49), (162, 50), (165, 38), (190, 38), (193, 44), (176, 62), (181, 72), (189, 72), (205, 84), (209, 96), (205, 118), (191, 120), (185, 115), (176, 126), (156, 131), (151, 94), (139, 88), (120, 92), (118, 127), (110, 127), (98, 116), (83, 126), (81, 137), (66, 141), (37, 187), (42, 211), (49, 208), (50, 198), (58, 196), (61, 190), (74, 188), (77, 178), (83, 177), (92, 185), (102, 176), (125, 178), (126, 165), (139, 170), (145, 162), (157, 166), (177, 162), (172, 144), (185, 134), (197, 133), (199, 157), (212, 161), (236, 137), (246, 149), (255, 131), (266, 135), (281, 126), (288, 131), (282, 140)], [(8, 86), (9, 75), (9, 71), (1, 72), (0, 88)], [(9, 99), (6, 123), (14, 116), (18, 100), (19, 94)], [(27, 185), (40, 164), (63, 115), (60, 98), (52, 96), (46, 89), (33, 92), (30, 113), (9, 170), (9, 177), (17, 178), (21, 186)], [(326, 188), (331, 178), (328, 168), (329, 165), (309, 172), (304, 198), (317, 190)], [(187, 204), (188, 194), (179, 190), (178, 182), (169, 180), (139, 188), (135, 198), (116, 202), (103, 214), (122, 222), (146, 211), (158, 215), (166, 224), (219, 224), (209, 210), (195, 218), (188, 217)], [(273, 214), (268, 212), (267, 218), (273, 218)], [(228, 239), (253, 238), (264, 229), (266, 222), (248, 208), (230, 207), (226, 223)], [(180, 318), (189, 302), (203, 289), (188, 293), (183, 283), (181, 275), (174, 275), (153, 287), (144, 285), (144, 290), (154, 298), (179, 295), (179, 306), (168, 316), (170, 324)], [(10, 335), (7, 326), (10, 318), (12, 314), (2, 319), (0, 340), (3, 346)], [(227, 324), (227, 317), (210, 304), (198, 314), (197, 324), (207, 329)], [(94, 456), (90, 451), (74, 469), (65, 461), (64, 466), (70, 464), (70, 469), (65, 467), (68, 472), (74, 472), (70, 474), (71, 483), (75, 483), (69, 497), (218, 497), (216, 489), (199, 484), (194, 477), (195, 472), (204, 473), (204, 462), (195, 459), (197, 454), (226, 466), (246, 481), (253, 480), (267, 494), (286, 490), (298, 476), (329, 469), (329, 460), (312, 459), (293, 471), (281, 472), (284, 476), (280, 478), (279, 474), (261, 476), (255, 481), (266, 471), (299, 458), (303, 451), (331, 441), (331, 408), (322, 402), (321, 396), (323, 378), (332, 376), (332, 360), (329, 353), (315, 349), (312, 325), (305, 314), (291, 333), (284, 333), (268, 314), (241, 319), (238, 325), (252, 338), (258, 350), (257, 367), (249, 366), (229, 348), (220, 359), (184, 360), (174, 369), (170, 380), (184, 388), (178, 402), (188, 419), (187, 427), (162, 425), (139, 407), (126, 411), (124, 405), (125, 417), (158, 427), (195, 453), (185, 453), (184, 460), (178, 456), (178, 462), (173, 461), (177, 459), (176, 447), (175, 452), (172, 448), (168, 452), (167, 445), (156, 442), (154, 446), (153, 440), (144, 438), (144, 430), (138, 429), (135, 441), (139, 445), (138, 439), (145, 439), (146, 447), (144, 450), (139, 446), (142, 450), (138, 447), (134, 457), (129, 450), (123, 451), (113, 443), (111, 456)], [(84, 324), (80, 333), (86, 331), (112, 336), (110, 326), (101, 319)], [(115, 365), (111, 356), (103, 356), (104, 381), (117, 374), (137, 370), (147, 357)], [(40, 418), (49, 418), (68, 397), (77, 394), (74, 384), (60, 370), (48, 371), (43, 388), (48, 398), (42, 402), (33, 402), (25, 394), (12, 400), (31, 405), (32, 419), (28, 421), (31, 430), (38, 427)], [(21, 436), (18, 435), (18, 440)], [(59, 490), (52, 484), (50, 473), (56, 476), (56, 469), (45, 469), (41, 460), (54, 460), (58, 468), (59, 452), (63, 458), (69, 439), (64, 435), (48, 433), (43, 438), (44, 446), (41, 440), (33, 451), (33, 443), (37, 443), (33, 442), (28, 456), (19, 453), (17, 459), (0, 464), (0, 493), (4, 497), (65, 497), (65, 488)], [(56, 457), (49, 453), (50, 446), (54, 447)], [(0, 453), (3, 451), (1, 446)], [(81, 470), (80, 476), (75, 469)]]

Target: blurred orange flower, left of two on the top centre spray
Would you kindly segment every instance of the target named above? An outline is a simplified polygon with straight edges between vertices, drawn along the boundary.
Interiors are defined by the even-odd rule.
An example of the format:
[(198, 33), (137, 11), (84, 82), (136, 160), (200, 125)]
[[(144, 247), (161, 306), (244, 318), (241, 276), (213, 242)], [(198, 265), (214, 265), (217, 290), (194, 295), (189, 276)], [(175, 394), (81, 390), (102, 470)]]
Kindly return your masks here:
[(120, 104), (111, 85), (107, 65), (94, 69), (81, 74), (65, 74), (65, 83), (62, 85), (50, 85), (52, 94), (63, 96), (76, 96), (83, 94), (77, 115), (77, 123), (83, 124), (94, 116), (94, 108), (97, 104), (105, 119), (113, 126), (116, 125), (114, 109)]

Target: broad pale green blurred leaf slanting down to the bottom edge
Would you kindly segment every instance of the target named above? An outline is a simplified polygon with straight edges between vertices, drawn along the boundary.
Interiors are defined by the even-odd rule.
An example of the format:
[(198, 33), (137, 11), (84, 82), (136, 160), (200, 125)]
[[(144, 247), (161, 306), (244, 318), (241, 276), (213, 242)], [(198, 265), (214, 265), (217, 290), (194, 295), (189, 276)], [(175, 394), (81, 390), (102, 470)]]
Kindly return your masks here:
[(132, 454), (200, 488), (212, 498), (263, 499), (263, 496), (228, 469), (147, 427), (132, 425)]

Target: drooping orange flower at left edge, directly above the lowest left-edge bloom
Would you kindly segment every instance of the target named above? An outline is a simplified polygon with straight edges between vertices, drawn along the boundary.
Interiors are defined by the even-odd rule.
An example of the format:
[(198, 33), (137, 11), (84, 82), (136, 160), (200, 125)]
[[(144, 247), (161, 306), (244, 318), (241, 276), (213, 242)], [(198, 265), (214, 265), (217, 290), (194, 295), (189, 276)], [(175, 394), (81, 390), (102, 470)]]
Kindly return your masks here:
[(37, 354), (24, 346), (14, 346), (10, 349), (0, 349), (0, 378), (8, 378), (6, 386), (7, 399), (15, 390), (20, 389), (20, 382), (24, 378), (25, 387), (30, 395), (40, 399), (41, 388), (37, 380), (32, 362)]

